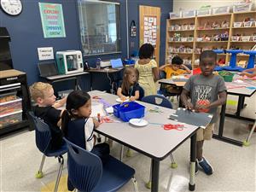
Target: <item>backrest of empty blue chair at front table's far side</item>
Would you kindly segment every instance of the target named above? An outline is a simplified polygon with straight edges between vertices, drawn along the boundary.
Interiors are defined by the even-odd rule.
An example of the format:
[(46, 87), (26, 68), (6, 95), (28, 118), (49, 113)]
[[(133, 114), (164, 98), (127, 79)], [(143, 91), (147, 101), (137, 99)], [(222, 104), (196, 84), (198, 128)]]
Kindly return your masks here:
[(142, 99), (142, 102), (148, 102), (164, 108), (172, 108), (172, 102), (166, 99), (165, 96), (160, 96), (160, 95), (144, 96)]

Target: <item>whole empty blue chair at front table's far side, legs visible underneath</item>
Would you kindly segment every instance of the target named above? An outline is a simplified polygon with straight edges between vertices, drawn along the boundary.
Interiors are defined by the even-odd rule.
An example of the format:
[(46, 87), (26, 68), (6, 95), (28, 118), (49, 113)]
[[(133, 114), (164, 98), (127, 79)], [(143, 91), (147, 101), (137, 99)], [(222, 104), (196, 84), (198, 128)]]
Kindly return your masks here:
[[(144, 96), (142, 99), (142, 102), (148, 102), (148, 103), (158, 105), (158, 106), (164, 107), (164, 108), (172, 108), (172, 102), (170, 102), (168, 99), (166, 99), (165, 96), (160, 96), (160, 95)], [(173, 169), (177, 168), (177, 163), (175, 162), (172, 154), (170, 154), (170, 158), (172, 160), (171, 167)], [(151, 170), (152, 170), (152, 164), (150, 167), (149, 181), (148, 181), (148, 183), (146, 183), (146, 187), (148, 189), (151, 189), (151, 177), (152, 177)]]

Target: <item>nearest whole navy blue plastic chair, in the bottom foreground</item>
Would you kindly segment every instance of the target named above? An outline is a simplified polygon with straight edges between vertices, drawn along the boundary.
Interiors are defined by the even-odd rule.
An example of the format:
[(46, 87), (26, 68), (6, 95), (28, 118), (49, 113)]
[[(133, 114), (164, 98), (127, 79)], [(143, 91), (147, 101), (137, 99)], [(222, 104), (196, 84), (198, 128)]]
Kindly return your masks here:
[(102, 166), (102, 160), (84, 148), (67, 143), (67, 171), (69, 181), (79, 191), (117, 191), (130, 179), (137, 191), (134, 178), (135, 170), (109, 155), (109, 160)]

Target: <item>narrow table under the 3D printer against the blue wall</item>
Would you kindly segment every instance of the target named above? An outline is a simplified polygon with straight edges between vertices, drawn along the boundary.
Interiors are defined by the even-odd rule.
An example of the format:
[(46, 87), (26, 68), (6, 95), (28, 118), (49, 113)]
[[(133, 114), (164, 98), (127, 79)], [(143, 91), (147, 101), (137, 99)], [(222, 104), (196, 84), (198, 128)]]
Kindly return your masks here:
[(71, 74), (60, 74), (60, 75), (55, 75), (55, 76), (49, 76), (49, 77), (42, 77), (42, 79), (45, 79), (49, 83), (55, 83), (55, 82), (60, 82), (60, 81), (66, 81), (66, 80), (75, 80), (75, 90), (81, 90), (79, 86), (79, 81), (78, 78), (85, 75), (89, 74), (88, 72), (81, 72), (81, 73), (71, 73)]

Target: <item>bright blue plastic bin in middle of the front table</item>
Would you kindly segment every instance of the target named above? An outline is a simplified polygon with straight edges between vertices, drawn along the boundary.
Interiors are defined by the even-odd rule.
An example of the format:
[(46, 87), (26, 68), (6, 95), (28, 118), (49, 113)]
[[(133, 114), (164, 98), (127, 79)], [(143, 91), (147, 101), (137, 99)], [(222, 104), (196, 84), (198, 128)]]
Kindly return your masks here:
[(137, 102), (125, 102), (113, 105), (113, 114), (117, 118), (128, 122), (130, 119), (144, 117), (145, 107)]

